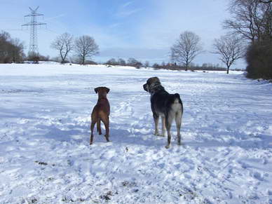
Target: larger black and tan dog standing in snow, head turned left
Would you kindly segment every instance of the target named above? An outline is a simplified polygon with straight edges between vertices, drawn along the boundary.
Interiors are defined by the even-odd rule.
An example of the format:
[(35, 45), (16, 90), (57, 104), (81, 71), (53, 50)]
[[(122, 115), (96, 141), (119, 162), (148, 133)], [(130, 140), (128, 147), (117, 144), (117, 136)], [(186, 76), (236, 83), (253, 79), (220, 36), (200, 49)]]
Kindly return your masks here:
[(180, 127), (182, 125), (183, 104), (178, 93), (170, 94), (163, 86), (158, 77), (152, 77), (144, 84), (144, 90), (150, 93), (151, 110), (155, 122), (155, 135), (158, 134), (158, 119), (161, 116), (162, 132), (165, 135), (165, 126), (168, 133), (168, 144), (165, 148), (170, 147), (171, 133), (170, 128), (172, 121), (175, 119), (177, 125), (177, 143), (180, 144)]

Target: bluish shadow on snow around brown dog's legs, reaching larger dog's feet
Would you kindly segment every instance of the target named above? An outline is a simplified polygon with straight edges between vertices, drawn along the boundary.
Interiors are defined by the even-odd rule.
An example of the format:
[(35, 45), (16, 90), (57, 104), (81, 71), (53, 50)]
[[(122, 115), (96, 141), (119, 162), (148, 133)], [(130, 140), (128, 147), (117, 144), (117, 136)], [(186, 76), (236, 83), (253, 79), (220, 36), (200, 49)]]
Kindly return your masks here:
[[(134, 134), (126, 129), (118, 128), (116, 124), (111, 123), (112, 128), (109, 129), (109, 140), (111, 144), (124, 145), (144, 145), (144, 146), (162, 146), (166, 142), (166, 137), (154, 136), (151, 133), (142, 134), (137, 132)], [(93, 144), (104, 144), (106, 138), (104, 137), (104, 125), (102, 127), (102, 135), (99, 135), (95, 126)], [(39, 125), (42, 132), (45, 134), (35, 134), (36, 137), (45, 137), (49, 140), (57, 140), (58, 142), (70, 142), (73, 144), (89, 144), (90, 143), (90, 124), (84, 125), (67, 125), (65, 128), (57, 125)]]

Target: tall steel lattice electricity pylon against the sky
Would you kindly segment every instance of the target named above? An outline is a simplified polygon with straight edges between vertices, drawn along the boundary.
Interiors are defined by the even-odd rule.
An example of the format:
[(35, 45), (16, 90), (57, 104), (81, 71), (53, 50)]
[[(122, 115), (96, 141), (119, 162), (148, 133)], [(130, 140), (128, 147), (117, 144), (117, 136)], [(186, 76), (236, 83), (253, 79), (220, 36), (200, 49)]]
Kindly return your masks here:
[(29, 7), (31, 13), (28, 15), (25, 15), (25, 17), (30, 17), (31, 21), (27, 24), (22, 25), (22, 27), (30, 26), (29, 53), (36, 54), (36, 55), (39, 53), (37, 26), (38, 25), (46, 25), (46, 23), (44, 23), (44, 22), (37, 22), (36, 21), (37, 16), (43, 15), (41, 13), (36, 12), (38, 10), (38, 8), (39, 8), (39, 6), (36, 9), (32, 9)]

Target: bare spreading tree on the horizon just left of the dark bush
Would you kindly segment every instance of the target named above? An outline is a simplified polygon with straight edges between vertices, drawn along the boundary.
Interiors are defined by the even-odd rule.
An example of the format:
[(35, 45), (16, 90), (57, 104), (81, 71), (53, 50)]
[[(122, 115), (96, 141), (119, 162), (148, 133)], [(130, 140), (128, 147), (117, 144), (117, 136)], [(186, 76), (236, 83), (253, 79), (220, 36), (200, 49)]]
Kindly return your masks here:
[(215, 39), (213, 47), (215, 50), (212, 53), (219, 55), (219, 60), (226, 64), (226, 74), (236, 60), (245, 56), (245, 43), (238, 36), (221, 36)]

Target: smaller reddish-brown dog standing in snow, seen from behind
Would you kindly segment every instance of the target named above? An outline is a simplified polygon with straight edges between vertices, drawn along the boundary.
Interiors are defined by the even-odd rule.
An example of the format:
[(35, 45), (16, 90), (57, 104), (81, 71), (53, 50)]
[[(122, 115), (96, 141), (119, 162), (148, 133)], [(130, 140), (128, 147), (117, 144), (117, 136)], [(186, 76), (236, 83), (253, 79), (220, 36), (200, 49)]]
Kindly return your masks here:
[(106, 128), (106, 140), (109, 142), (109, 101), (107, 100), (107, 93), (109, 93), (109, 88), (107, 87), (97, 87), (95, 88), (95, 93), (98, 93), (98, 101), (92, 112), (92, 123), (90, 124), (90, 144), (93, 144), (93, 128), (95, 128), (95, 123), (97, 123), (97, 132), (102, 135), (101, 132), (101, 121), (104, 123)]

